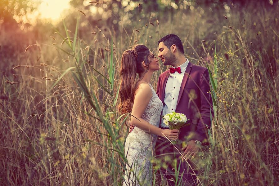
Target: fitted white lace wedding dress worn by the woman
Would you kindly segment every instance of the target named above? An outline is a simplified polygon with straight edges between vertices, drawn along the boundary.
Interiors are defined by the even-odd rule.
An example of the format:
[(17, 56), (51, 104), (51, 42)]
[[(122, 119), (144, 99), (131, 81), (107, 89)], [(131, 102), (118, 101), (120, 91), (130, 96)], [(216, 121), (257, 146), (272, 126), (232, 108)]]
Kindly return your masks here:
[[(151, 86), (151, 84), (149, 84)], [(163, 109), (163, 103), (157, 96), (153, 87), (152, 98), (146, 110), (142, 115), (142, 119), (149, 122), (151, 125), (159, 126), (160, 115)], [(155, 154), (155, 144), (157, 135), (145, 132), (137, 127), (128, 135), (125, 142), (125, 155), (128, 159), (128, 165), (125, 171), (125, 179), (123, 186), (126, 185), (152, 185), (152, 163), (153, 155)], [(130, 171), (130, 169), (133, 170)], [(136, 179), (136, 177), (138, 179)], [(139, 180), (139, 182), (138, 182)]]

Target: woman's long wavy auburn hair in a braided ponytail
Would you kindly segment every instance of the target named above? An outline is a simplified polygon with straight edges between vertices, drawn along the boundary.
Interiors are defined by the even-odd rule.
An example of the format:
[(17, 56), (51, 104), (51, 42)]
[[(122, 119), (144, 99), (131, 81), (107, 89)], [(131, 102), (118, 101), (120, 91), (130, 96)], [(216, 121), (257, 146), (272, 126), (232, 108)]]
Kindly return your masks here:
[(145, 45), (136, 45), (122, 54), (119, 87), (120, 103), (118, 104), (118, 110), (121, 113), (132, 111), (135, 90), (138, 87), (136, 73), (140, 74), (145, 71), (142, 61), (145, 61), (147, 67), (149, 66), (148, 56), (149, 49)]

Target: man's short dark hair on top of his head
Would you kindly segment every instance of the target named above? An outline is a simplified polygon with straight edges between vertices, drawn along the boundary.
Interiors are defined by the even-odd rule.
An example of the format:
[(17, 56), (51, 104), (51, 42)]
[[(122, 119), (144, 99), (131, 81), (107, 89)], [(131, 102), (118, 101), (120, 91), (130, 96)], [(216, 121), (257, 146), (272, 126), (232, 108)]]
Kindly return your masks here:
[(163, 38), (159, 39), (158, 45), (160, 42), (164, 42), (164, 45), (167, 46), (168, 49), (170, 49), (170, 47), (172, 45), (176, 45), (176, 47), (178, 48), (178, 51), (180, 51), (184, 55), (184, 48), (182, 45), (182, 41), (177, 35), (175, 35), (173, 33), (168, 34), (168, 35), (164, 36)]

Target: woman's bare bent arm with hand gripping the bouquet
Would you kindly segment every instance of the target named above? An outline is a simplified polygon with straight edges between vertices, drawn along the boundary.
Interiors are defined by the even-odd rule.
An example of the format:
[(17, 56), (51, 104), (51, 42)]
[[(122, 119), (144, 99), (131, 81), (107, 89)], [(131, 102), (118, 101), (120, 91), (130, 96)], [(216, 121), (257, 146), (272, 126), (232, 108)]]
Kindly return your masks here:
[(167, 137), (172, 140), (177, 139), (179, 130), (161, 129), (157, 126), (151, 125), (150, 123), (142, 119), (142, 114), (149, 104), (151, 97), (151, 87), (145, 83), (140, 84), (139, 88), (135, 92), (135, 99), (132, 108), (130, 123), (142, 129), (143, 131), (150, 132), (164, 138)]

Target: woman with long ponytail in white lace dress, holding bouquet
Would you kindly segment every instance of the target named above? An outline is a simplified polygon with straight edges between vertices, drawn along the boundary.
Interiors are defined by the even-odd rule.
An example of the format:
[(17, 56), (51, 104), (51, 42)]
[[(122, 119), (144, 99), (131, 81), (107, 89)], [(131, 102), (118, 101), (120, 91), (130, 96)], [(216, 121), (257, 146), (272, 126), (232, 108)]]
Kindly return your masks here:
[[(135, 126), (125, 142), (128, 160), (123, 185), (152, 185), (152, 164), (157, 136), (176, 140), (179, 130), (159, 128), (163, 104), (150, 84), (152, 73), (159, 70), (159, 60), (145, 45), (124, 51), (120, 69), (121, 113), (131, 113)], [(136, 73), (139, 78), (136, 81)]]

